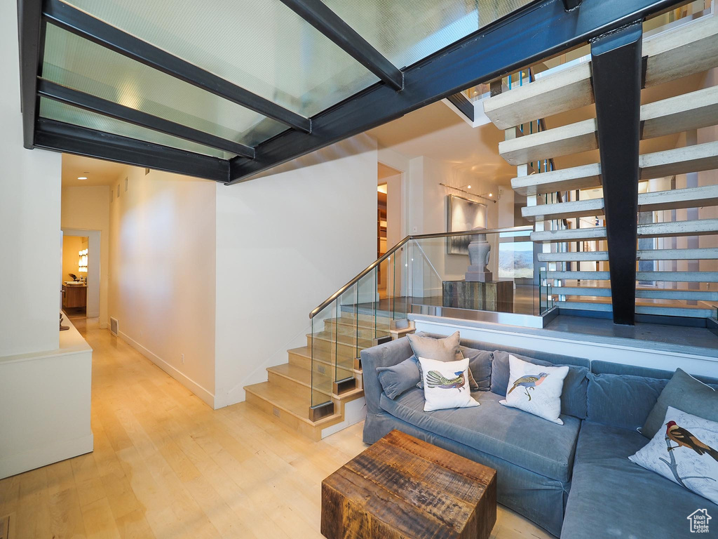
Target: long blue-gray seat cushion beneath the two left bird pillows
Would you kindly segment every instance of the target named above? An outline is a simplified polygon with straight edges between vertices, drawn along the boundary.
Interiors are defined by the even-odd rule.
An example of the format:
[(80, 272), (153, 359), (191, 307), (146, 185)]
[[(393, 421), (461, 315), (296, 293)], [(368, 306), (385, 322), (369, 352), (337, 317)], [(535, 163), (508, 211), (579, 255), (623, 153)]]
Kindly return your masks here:
[(556, 425), (501, 406), (493, 392), (474, 392), (479, 407), (424, 412), (424, 392), (409, 390), (396, 400), (381, 395), (379, 405), (396, 418), (444, 438), (488, 453), (536, 474), (568, 482), (580, 420), (562, 415)]

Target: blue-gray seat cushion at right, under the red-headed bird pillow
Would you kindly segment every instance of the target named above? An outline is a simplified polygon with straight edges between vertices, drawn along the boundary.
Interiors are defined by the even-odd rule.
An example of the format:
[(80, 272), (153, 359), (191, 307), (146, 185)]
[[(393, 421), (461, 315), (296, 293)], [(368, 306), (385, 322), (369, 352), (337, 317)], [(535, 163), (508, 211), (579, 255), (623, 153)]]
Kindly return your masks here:
[(561, 539), (688, 537), (686, 517), (718, 506), (628, 460), (645, 445), (635, 430), (584, 421)]

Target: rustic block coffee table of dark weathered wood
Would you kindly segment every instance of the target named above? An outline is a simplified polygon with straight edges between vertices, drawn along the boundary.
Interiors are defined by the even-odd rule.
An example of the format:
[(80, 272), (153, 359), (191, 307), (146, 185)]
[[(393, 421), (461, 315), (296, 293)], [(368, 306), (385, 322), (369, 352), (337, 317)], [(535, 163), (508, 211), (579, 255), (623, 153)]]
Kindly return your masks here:
[(328, 539), (487, 539), (496, 471), (392, 430), (322, 482)]

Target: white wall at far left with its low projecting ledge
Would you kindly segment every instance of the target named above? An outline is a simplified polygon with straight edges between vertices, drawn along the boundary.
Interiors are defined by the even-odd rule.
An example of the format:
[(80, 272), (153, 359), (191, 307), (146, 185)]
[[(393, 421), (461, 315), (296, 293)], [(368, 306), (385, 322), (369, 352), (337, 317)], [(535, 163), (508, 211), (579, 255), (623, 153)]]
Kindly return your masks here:
[(92, 351), (60, 338), (60, 154), (22, 147), (16, 6), (0, 2), (0, 479), (93, 447)]

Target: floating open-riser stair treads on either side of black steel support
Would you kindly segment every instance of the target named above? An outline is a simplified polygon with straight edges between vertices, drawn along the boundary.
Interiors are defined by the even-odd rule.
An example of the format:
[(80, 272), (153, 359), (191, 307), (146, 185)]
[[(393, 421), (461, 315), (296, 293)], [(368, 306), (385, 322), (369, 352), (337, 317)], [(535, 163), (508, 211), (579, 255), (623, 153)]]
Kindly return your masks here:
[[(718, 17), (704, 14), (682, 26), (644, 37), (642, 51), (645, 88), (716, 68)], [(605, 201), (602, 195), (594, 195), (602, 188), (600, 162), (552, 167), (548, 171), (544, 166), (541, 170), (541, 162), (599, 149), (596, 118), (546, 129), (545, 119), (549, 116), (595, 103), (589, 59), (590, 55), (575, 65), (541, 73), (537, 80), (529, 76), (529, 83), (522, 86), (506, 88), (505, 84), (493, 83), (492, 88), (502, 91), (494, 92), (483, 103), (493, 124), (505, 130), (505, 140), (499, 143), (498, 151), (506, 162), (517, 167), (511, 186), (527, 197), (521, 215), (534, 224), (531, 240), (541, 246), (537, 258), (546, 266), (546, 279), (553, 283), (555, 305), (610, 313), (610, 250), (602, 222)], [(682, 95), (640, 106), (641, 139), (718, 124), (718, 86), (686, 89), (689, 91)], [(570, 114), (563, 117), (567, 116)], [(536, 121), (538, 117), (544, 120)], [(538, 129), (533, 129), (534, 124)], [(718, 234), (718, 219), (713, 218), (717, 213), (696, 218), (698, 211), (691, 211), (693, 218), (684, 220), (676, 219), (675, 212), (670, 219), (666, 214), (718, 206), (718, 185), (671, 185), (666, 190), (666, 183), (670, 185), (670, 178), (676, 175), (718, 168), (718, 141), (645, 153), (639, 156), (639, 167), (640, 181), (653, 182), (643, 184), (648, 189), (638, 194), (638, 211), (643, 218), (638, 224), (635, 312), (716, 318), (718, 272), (694, 270), (701, 261), (716, 260), (718, 249), (708, 242), (698, 243), (697, 239), (681, 249), (686, 240), (678, 239)], [(661, 182), (663, 189), (651, 188)], [(583, 190), (593, 193), (582, 197)], [(645, 240), (653, 240), (655, 248), (646, 249)], [(686, 266), (686, 261), (691, 262), (692, 270), (677, 271), (677, 266)], [(656, 271), (645, 271), (650, 264)]]

